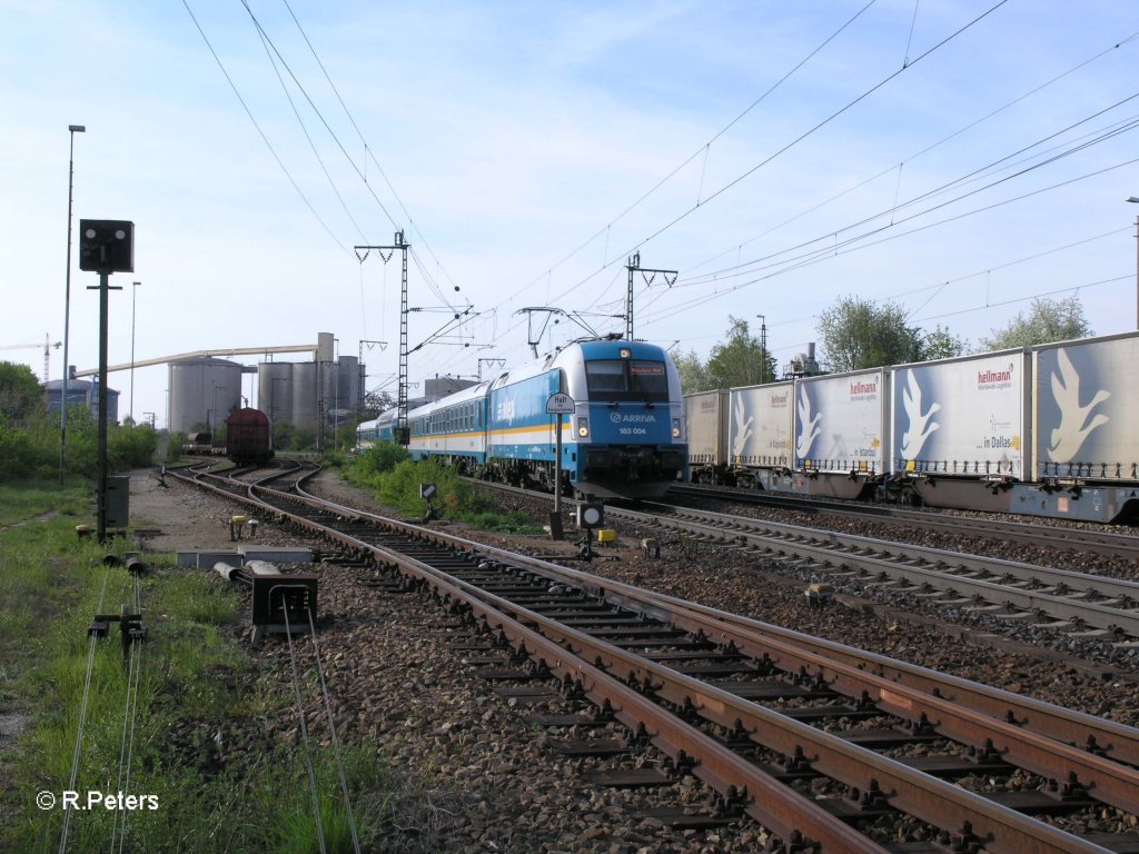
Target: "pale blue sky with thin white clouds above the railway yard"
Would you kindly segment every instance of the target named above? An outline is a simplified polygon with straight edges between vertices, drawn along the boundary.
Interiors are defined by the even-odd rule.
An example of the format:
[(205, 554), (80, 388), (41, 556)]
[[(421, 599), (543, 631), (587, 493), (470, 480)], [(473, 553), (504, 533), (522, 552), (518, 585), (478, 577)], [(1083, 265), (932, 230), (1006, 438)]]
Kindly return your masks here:
[[(303, 35), (282, 0), (0, 0), (0, 346), (63, 338), (68, 124), (88, 128), (75, 227), (137, 229), (112, 363), (141, 281), (140, 360), (330, 331), (344, 355), (390, 342), (367, 356), (382, 385), (399, 265), (353, 247), (398, 228), (411, 345), (472, 306), (412, 353), (412, 381), (528, 359), (523, 307), (623, 330), (632, 252), (679, 271), (637, 279), (636, 336), (702, 356), (730, 317), (757, 331), (762, 314), (789, 361), (847, 295), (974, 344), (1034, 296), (1077, 294), (1097, 334), (1136, 328), (1133, 2), (290, 7)], [(93, 279), (73, 268), (81, 369), (98, 361)], [(581, 334), (562, 319), (540, 346)], [(42, 372), (42, 350), (0, 359)], [(165, 369), (134, 381), (136, 416), (161, 425)], [(112, 376), (122, 414), (128, 383)]]

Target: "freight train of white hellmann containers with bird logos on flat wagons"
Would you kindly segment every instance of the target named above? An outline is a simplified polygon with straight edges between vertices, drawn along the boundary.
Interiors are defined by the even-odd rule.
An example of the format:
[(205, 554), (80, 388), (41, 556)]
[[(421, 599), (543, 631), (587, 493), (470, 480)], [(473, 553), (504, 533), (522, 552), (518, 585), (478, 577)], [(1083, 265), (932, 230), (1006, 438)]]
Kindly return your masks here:
[(1139, 334), (685, 397), (697, 483), (1139, 518)]

